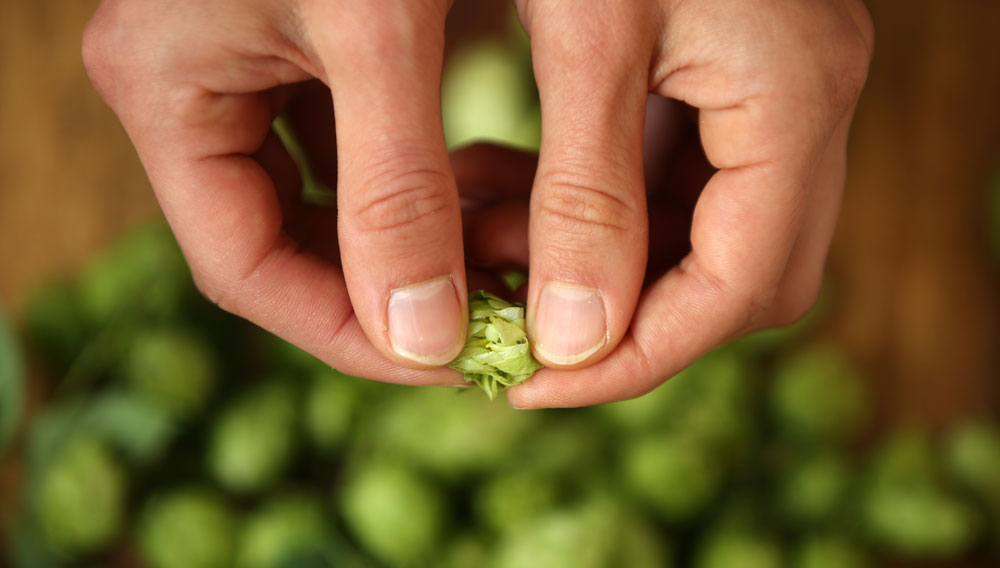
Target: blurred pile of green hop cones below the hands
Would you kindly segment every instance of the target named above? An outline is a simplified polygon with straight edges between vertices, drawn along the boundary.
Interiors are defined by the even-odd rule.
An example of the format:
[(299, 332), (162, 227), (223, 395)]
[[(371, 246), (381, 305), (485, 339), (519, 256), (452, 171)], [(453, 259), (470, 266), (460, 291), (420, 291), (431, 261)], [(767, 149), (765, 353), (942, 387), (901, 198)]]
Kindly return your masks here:
[[(165, 229), (138, 234), (99, 262), (180, 258)], [(523, 412), (346, 376), (221, 313), (171, 263), (143, 270), (173, 282), (147, 298), (126, 279), (103, 320), (80, 317), (98, 313), (83, 280), (35, 297), (58, 310), (26, 310), (51, 398), (19, 454), (16, 567), (115, 565), (123, 548), (153, 568), (1000, 555), (996, 423), (859, 452), (864, 380), (807, 328), (710, 353), (634, 400)], [(77, 331), (60, 334), (56, 311)]]

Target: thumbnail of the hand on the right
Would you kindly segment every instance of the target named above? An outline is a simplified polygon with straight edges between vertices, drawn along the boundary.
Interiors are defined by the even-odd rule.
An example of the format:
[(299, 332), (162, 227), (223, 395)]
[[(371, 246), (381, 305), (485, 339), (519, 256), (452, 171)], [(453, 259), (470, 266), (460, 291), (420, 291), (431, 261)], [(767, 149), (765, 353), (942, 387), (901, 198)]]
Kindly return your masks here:
[(604, 301), (592, 288), (549, 282), (542, 288), (535, 316), (535, 351), (557, 365), (572, 365), (593, 355), (607, 341)]

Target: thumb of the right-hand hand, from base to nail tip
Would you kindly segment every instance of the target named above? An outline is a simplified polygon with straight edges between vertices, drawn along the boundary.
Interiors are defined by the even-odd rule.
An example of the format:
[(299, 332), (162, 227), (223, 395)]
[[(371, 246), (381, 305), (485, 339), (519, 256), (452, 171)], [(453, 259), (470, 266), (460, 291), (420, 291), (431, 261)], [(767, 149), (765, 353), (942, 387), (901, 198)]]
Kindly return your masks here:
[(542, 105), (529, 336), (546, 365), (590, 365), (624, 336), (645, 271), (650, 20), (605, 3), (539, 2), (528, 12)]

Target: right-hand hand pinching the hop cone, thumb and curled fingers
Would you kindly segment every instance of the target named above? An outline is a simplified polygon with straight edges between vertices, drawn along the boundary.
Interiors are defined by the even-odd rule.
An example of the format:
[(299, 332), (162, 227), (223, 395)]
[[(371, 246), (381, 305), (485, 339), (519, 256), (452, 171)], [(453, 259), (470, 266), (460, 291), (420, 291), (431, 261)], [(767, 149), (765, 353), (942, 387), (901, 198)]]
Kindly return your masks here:
[[(863, 5), (516, 4), (542, 102), (528, 325), (536, 356), (552, 368), (512, 389), (511, 403), (637, 396), (721, 343), (806, 312), (820, 288), (871, 55)], [(690, 252), (643, 289), (648, 92), (697, 109), (717, 171), (694, 194)], [(682, 205), (686, 197), (675, 195)]]

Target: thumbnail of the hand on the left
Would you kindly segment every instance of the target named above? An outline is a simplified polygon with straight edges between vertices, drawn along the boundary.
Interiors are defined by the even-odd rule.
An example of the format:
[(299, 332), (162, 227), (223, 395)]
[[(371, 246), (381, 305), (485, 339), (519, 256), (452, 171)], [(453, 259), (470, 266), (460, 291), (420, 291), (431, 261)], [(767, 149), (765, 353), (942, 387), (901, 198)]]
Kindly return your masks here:
[(397, 288), (389, 294), (392, 350), (425, 365), (451, 362), (462, 349), (462, 316), (450, 276)]

